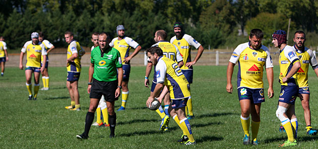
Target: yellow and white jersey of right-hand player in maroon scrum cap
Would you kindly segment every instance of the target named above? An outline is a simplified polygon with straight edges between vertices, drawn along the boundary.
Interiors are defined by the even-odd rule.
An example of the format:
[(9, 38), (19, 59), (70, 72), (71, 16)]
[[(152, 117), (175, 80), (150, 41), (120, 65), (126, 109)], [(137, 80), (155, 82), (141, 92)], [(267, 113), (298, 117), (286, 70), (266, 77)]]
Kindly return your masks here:
[(285, 86), (296, 86), (297, 82), (297, 73), (294, 74), (291, 78), (287, 80), (286, 83), (283, 83), (282, 79), (285, 77), (292, 69), (295, 62), (299, 62), (299, 59), (296, 55), (296, 51), (293, 47), (286, 45), (283, 50), (280, 51), (279, 54), (279, 82), (281, 85)]

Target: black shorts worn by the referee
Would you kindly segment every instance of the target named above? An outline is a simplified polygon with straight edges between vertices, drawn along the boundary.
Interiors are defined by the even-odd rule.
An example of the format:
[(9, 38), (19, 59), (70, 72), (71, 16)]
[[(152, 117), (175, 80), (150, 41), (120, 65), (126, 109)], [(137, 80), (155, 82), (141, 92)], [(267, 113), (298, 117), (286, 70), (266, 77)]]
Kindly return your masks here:
[(104, 81), (99, 81), (93, 78), (93, 82), (90, 88), (89, 98), (100, 99), (101, 96), (104, 95), (105, 100), (108, 102), (118, 100), (118, 97), (115, 98), (117, 85), (118, 85), (118, 80), (104, 82)]

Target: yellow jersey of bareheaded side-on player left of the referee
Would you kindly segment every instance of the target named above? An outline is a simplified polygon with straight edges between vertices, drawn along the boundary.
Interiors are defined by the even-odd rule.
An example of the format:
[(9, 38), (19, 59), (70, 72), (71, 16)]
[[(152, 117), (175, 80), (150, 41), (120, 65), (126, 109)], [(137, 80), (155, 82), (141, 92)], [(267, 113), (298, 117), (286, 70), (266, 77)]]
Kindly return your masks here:
[(79, 42), (73, 40), (68, 47), (67, 59), (69, 59), (74, 53), (78, 53), (78, 57), (74, 59), (74, 62), (67, 66), (68, 72), (80, 72), (81, 65), (80, 59), (83, 56), (84, 49), (79, 45)]

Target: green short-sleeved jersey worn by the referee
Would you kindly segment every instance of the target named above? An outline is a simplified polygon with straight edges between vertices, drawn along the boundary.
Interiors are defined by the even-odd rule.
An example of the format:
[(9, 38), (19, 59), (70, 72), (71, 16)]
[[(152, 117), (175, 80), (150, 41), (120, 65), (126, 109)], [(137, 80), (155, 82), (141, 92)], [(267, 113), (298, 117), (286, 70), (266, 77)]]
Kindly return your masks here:
[(94, 64), (93, 78), (99, 81), (114, 81), (117, 79), (117, 68), (122, 68), (120, 53), (112, 47), (104, 52), (99, 46), (94, 48), (90, 54), (90, 63)]

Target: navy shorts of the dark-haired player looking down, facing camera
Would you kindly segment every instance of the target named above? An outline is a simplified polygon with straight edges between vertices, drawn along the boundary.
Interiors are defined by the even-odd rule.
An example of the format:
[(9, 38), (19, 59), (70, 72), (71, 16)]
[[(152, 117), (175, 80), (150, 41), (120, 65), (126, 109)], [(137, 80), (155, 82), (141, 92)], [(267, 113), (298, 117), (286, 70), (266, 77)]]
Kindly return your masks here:
[(263, 88), (251, 89), (247, 87), (239, 87), (238, 95), (239, 95), (239, 100), (249, 99), (251, 103), (265, 102)]

